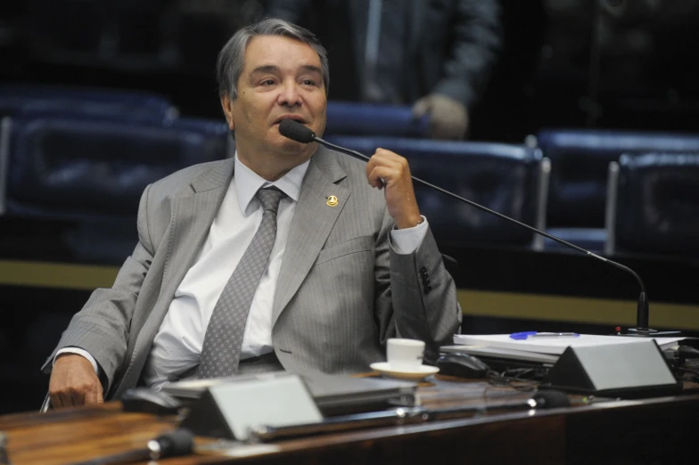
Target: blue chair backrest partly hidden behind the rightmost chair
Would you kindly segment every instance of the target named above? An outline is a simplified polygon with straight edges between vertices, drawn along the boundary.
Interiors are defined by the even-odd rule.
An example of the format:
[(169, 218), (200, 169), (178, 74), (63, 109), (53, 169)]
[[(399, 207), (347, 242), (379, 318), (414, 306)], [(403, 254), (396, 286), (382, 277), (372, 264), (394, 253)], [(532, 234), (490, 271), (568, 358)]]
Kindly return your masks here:
[(545, 129), (537, 135), (551, 159), (547, 224), (603, 227), (607, 167), (622, 153), (699, 151), (699, 135)]

